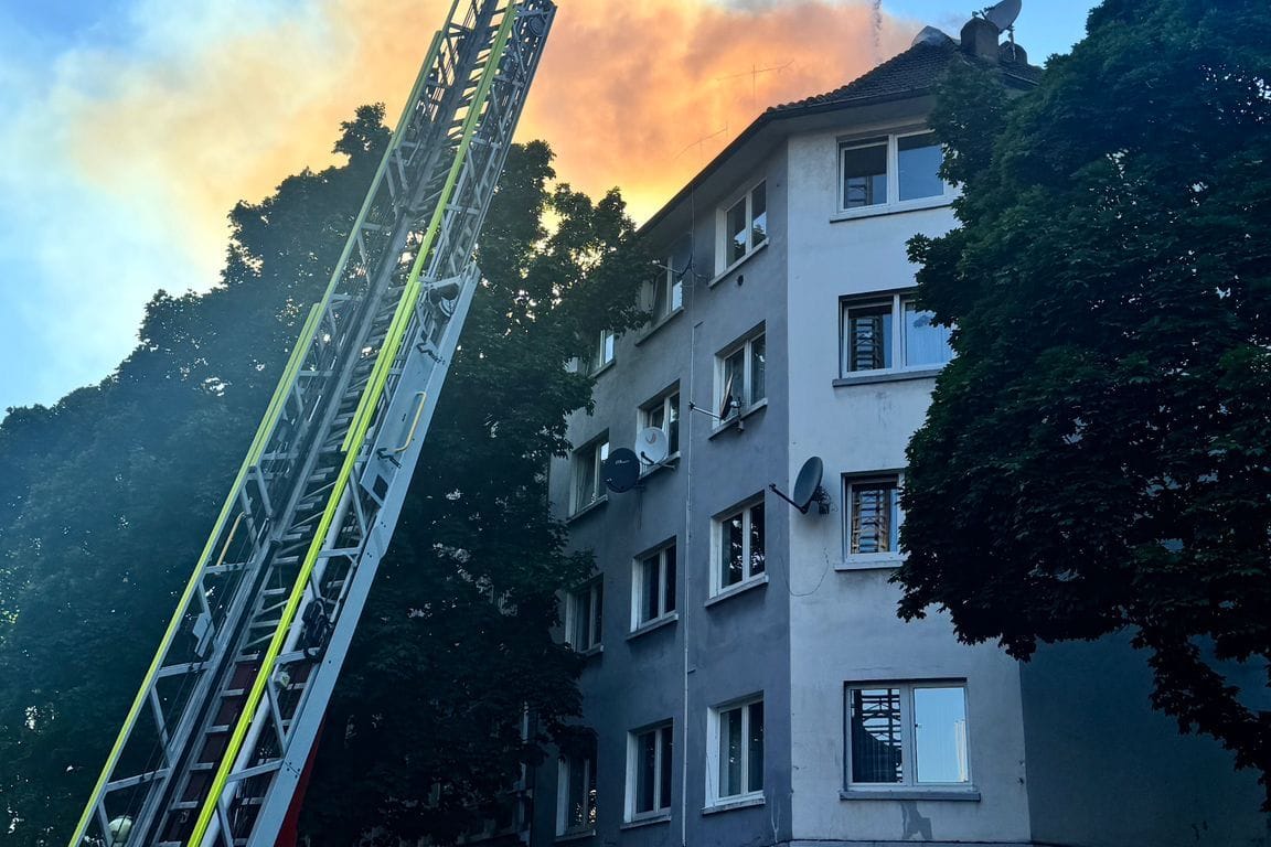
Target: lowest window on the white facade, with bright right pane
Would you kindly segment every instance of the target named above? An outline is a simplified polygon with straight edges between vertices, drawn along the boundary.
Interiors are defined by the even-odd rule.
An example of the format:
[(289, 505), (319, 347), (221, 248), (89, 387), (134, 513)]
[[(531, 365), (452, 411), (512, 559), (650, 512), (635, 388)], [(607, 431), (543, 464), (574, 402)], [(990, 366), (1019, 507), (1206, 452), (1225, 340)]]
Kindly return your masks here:
[(970, 785), (965, 683), (848, 686), (849, 786)]

